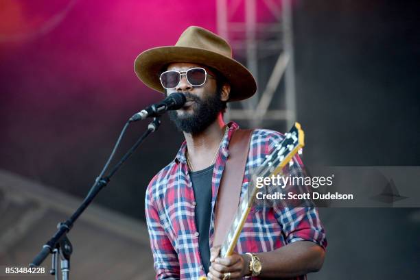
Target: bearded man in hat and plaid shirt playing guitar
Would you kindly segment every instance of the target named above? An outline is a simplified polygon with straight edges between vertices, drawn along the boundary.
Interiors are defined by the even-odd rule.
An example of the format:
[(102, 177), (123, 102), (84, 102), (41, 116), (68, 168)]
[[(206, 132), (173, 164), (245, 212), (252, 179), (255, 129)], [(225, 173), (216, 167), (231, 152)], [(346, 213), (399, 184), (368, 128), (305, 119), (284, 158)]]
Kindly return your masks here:
[[(252, 227), (243, 229), (233, 255), (218, 257), (220, 248), (213, 247), (215, 202), (229, 140), (238, 128), (224, 123), (226, 102), (256, 91), (255, 79), (233, 60), (229, 44), (206, 29), (189, 27), (175, 46), (141, 53), (135, 71), (150, 88), (187, 97), (183, 108), (170, 113), (185, 142), (150, 181), (145, 195), (156, 279), (305, 279), (318, 271), (327, 242), (314, 208), (251, 211), (246, 223)], [(241, 198), (250, 168), (261, 164), (282, 139), (276, 131), (253, 131)], [(299, 157), (294, 161), (300, 162)]]

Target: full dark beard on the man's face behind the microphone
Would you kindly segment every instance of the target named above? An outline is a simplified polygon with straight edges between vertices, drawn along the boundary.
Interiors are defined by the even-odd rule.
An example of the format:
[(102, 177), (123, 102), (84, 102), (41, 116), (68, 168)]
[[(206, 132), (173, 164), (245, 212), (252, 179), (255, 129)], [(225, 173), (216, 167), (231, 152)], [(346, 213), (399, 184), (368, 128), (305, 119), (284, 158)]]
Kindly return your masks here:
[(207, 99), (202, 99), (189, 92), (183, 92), (188, 101), (194, 101), (193, 112), (178, 116), (176, 111), (169, 111), (170, 120), (176, 125), (176, 128), (186, 133), (196, 134), (204, 131), (213, 123), (222, 110), (225, 102), (220, 100), (220, 92), (211, 94)]

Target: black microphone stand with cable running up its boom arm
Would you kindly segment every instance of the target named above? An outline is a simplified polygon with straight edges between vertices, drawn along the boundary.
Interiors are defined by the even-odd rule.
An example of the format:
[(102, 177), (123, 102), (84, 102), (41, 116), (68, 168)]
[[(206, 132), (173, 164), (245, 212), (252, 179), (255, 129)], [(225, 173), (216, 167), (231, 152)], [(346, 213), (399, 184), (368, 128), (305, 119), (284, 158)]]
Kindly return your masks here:
[(67, 233), (70, 231), (70, 229), (73, 227), (74, 222), (79, 218), (79, 216), (84, 212), (84, 210), (91, 204), (93, 199), (95, 199), (95, 196), (108, 184), (110, 181), (110, 178), (113, 177), (113, 175), (119, 170), (122, 164), (128, 160), (128, 158), (134, 153), (134, 151), (139, 147), (139, 145), (147, 138), (150, 133), (156, 131), (158, 129), (159, 125), (161, 124), (160, 116), (155, 116), (152, 120), (152, 122), (148, 125), (148, 129), (143, 133), (143, 135), (137, 140), (137, 142), (132, 145), (132, 147), (128, 150), (128, 152), (121, 157), (121, 160), (110, 171), (108, 175), (105, 177), (102, 177), (104, 175), (104, 172), (110, 162), (112, 160), (112, 157), (115, 153), (115, 150), (118, 147), (119, 141), (121, 140), (122, 136), (124, 135), (124, 132), (128, 125), (133, 120), (130, 119), (126, 126), (124, 127), (123, 131), (121, 131), (121, 134), (119, 136), (119, 139), (117, 140), (117, 144), (115, 144), (115, 148), (113, 153), (111, 153), (110, 158), (108, 159), (108, 162), (105, 164), (104, 169), (102, 170), (101, 174), (97, 179), (95, 180), (95, 183), (93, 184), (91, 190), (87, 194), (86, 198), (82, 202), (82, 204), (78, 207), (78, 209), (75, 210), (73, 215), (66, 220), (65, 222), (60, 222), (57, 227), (58, 230), (54, 234), (54, 236), (48, 240), (47, 243), (44, 244), (43, 249), (34, 257), (34, 260), (30, 264), (30, 267), (34, 266), (40, 266), (40, 264), (43, 263), (43, 261), (47, 258), (47, 256), (52, 253), (53, 254), (53, 267), (50, 271), (51, 275), (56, 275), (57, 279), (57, 261), (58, 257), (60, 257), (60, 264), (61, 264), (61, 270), (62, 270), (62, 279), (63, 280), (69, 280), (69, 271), (70, 271), (70, 255), (73, 251), (73, 246), (70, 243), (69, 238), (67, 237)]

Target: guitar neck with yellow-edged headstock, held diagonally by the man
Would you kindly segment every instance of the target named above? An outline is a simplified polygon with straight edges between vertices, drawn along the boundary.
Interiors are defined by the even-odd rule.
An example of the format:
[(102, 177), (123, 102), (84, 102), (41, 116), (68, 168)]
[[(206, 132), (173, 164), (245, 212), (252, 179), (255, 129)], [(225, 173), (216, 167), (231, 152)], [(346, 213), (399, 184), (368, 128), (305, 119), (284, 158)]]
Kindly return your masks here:
[[(292, 157), (296, 155), (296, 153), (301, 154), (301, 149), (305, 146), (304, 138), (305, 133), (303, 133), (301, 125), (299, 123), (294, 123), (292, 129), (290, 129), (288, 133), (285, 133), (283, 141), (277, 144), (272, 153), (266, 155), (266, 159), (263, 164), (257, 168), (253, 178), (277, 175), (281, 173), (281, 170), (286, 166), (286, 164), (292, 165)], [(242, 228), (244, 227), (246, 218), (248, 217), (250, 209), (255, 201), (255, 194), (258, 189), (255, 188), (255, 184), (250, 183), (249, 186), (252, 190), (248, 190), (248, 199), (244, 197), (244, 199), (240, 202), (240, 205), (237, 207), (237, 211), (233, 216), (233, 222), (229, 227), (226, 238), (222, 242), (220, 257), (229, 257), (232, 255), (233, 249), (235, 249), (237, 240), (240, 236)], [(207, 277), (200, 277), (199, 280), (205, 279), (207, 279)]]

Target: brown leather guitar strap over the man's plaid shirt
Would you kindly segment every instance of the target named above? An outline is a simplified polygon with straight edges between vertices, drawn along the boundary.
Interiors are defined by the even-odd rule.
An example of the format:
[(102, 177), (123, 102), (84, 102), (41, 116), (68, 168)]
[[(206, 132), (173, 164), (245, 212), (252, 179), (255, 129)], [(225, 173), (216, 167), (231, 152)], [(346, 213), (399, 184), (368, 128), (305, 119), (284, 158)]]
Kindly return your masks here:
[(253, 129), (237, 129), (229, 141), (229, 157), (224, 166), (215, 205), (213, 246), (222, 244), (239, 205), (252, 133)]

